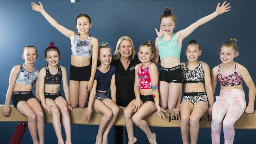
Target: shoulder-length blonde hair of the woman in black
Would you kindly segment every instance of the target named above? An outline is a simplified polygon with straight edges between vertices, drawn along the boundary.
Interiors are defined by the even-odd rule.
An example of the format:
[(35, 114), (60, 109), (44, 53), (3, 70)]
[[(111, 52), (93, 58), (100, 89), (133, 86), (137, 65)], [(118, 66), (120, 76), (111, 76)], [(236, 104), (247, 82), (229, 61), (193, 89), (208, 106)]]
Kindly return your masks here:
[(120, 54), (120, 52), (118, 52), (118, 51), (119, 51), (119, 49), (120, 49), (120, 43), (121, 43), (122, 41), (124, 41), (124, 40), (130, 41), (130, 43), (131, 43), (131, 45), (132, 45), (132, 55), (130, 56), (130, 59), (134, 59), (134, 56), (135, 56), (134, 43), (132, 42), (132, 39), (131, 39), (130, 37), (123, 36), (123, 37), (120, 37), (120, 39), (117, 41), (117, 48), (115, 49), (115, 52), (114, 52), (114, 58), (115, 58), (115, 60), (118, 60), (118, 59), (120, 59), (120, 57), (121, 57), (121, 54)]

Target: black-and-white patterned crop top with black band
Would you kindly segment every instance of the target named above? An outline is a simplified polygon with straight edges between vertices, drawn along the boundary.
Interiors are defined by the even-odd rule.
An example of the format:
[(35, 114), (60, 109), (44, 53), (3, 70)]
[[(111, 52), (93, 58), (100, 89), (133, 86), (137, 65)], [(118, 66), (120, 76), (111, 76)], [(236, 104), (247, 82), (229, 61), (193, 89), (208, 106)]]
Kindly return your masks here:
[(204, 83), (204, 68), (202, 61), (199, 61), (197, 67), (193, 70), (187, 68), (187, 62), (182, 65), (183, 83)]

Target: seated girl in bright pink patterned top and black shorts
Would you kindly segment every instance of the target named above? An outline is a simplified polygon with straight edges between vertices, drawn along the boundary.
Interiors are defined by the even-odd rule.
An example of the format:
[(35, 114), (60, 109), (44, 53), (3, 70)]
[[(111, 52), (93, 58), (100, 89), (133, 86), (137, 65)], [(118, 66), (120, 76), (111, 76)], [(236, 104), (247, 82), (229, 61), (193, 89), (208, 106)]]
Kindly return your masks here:
[(141, 44), (138, 51), (141, 63), (135, 66), (134, 93), (136, 98), (124, 110), (128, 144), (134, 144), (137, 141), (134, 137), (133, 122), (147, 135), (150, 144), (156, 144), (156, 134), (150, 131), (147, 122), (143, 120), (145, 116), (156, 110), (160, 118), (165, 118), (163, 112), (166, 112), (159, 105), (158, 69), (151, 62), (154, 57), (152, 42), (149, 40)]

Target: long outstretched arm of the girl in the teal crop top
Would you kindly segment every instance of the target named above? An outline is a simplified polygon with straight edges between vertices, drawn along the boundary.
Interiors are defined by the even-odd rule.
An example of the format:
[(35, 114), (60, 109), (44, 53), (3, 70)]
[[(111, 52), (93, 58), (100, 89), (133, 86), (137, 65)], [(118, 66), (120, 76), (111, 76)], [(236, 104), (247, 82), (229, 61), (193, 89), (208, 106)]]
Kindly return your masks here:
[[(196, 28), (198, 28), (198, 26), (201, 26), (202, 24), (205, 24), (206, 22), (212, 20), (213, 18), (217, 17), (218, 15), (221, 15), (227, 11), (230, 11), (230, 7), (229, 6), (230, 3), (226, 4), (226, 1), (223, 2), (223, 4), (220, 6), (220, 3), (218, 3), (216, 10), (211, 13), (210, 15), (200, 18), (199, 20), (197, 20), (195, 23), (191, 24), (189, 27), (187, 27), (184, 30), (178, 31), (176, 33), (176, 37), (178, 39), (179, 44), (181, 45), (182, 41), (188, 36), (190, 35), (190, 33), (192, 33)], [(229, 6), (229, 7), (228, 7)]]

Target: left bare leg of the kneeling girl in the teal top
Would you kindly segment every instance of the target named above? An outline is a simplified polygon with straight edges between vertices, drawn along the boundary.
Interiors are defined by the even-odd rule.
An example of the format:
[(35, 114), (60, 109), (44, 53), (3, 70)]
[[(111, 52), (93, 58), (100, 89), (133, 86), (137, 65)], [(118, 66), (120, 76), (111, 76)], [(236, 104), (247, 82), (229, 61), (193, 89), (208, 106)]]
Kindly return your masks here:
[(160, 81), (160, 83), (159, 83), (160, 106), (163, 109), (167, 109), (168, 92), (169, 92), (169, 83), (167, 83), (165, 81)]

